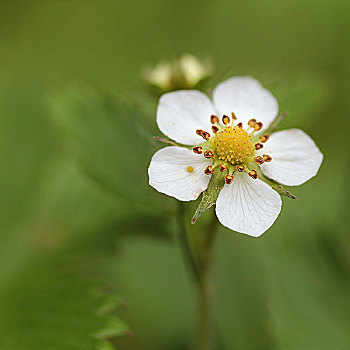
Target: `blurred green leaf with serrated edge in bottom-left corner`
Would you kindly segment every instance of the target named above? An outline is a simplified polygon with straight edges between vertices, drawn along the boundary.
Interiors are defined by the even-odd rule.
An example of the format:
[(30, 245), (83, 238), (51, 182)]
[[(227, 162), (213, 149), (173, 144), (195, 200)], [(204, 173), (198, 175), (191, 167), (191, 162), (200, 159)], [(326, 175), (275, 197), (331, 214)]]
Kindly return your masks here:
[(96, 338), (114, 338), (128, 330), (112, 313), (98, 312), (103, 298), (92, 290), (101, 281), (87, 274), (88, 262), (60, 257), (31, 262), (2, 290), (1, 349), (94, 350)]

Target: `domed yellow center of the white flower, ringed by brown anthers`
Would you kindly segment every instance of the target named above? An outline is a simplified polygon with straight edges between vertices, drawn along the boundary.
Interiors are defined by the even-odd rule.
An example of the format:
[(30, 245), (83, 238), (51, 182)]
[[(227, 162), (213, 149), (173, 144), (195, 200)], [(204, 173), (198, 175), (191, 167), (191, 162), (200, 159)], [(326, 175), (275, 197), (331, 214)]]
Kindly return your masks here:
[(254, 156), (255, 149), (249, 134), (238, 126), (228, 126), (214, 139), (218, 159), (233, 165), (243, 163)]

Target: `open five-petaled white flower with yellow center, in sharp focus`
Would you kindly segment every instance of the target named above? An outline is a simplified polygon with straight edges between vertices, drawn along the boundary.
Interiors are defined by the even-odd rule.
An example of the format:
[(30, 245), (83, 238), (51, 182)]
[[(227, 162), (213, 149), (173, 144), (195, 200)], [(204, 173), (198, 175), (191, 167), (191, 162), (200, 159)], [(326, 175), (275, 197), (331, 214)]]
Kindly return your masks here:
[(156, 152), (148, 169), (150, 185), (190, 201), (207, 188), (214, 171), (221, 171), (225, 185), (216, 202), (219, 221), (234, 231), (260, 236), (276, 220), (282, 201), (258, 178), (257, 167), (281, 184), (296, 186), (315, 176), (323, 159), (302, 130), (264, 134), (277, 113), (276, 98), (251, 77), (224, 81), (212, 100), (195, 90), (163, 95), (157, 110), (159, 129), (192, 150), (171, 146)]

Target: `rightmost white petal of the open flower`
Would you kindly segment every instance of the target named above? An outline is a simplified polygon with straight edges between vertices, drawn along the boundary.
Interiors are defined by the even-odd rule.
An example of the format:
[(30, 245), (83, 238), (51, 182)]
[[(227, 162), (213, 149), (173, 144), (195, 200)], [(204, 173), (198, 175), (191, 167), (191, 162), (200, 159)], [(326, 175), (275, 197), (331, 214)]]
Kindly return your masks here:
[(261, 166), (262, 172), (287, 186), (301, 185), (311, 179), (317, 174), (323, 159), (312, 138), (299, 129), (272, 134), (259, 153), (272, 157), (270, 163)]

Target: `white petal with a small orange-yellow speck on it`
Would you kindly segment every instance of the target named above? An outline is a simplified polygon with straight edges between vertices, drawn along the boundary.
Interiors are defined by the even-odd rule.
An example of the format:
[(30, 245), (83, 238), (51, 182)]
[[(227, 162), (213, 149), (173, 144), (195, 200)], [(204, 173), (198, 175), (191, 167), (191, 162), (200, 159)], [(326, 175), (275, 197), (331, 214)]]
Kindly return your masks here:
[[(149, 184), (180, 201), (191, 201), (208, 187), (211, 176), (204, 169), (212, 161), (182, 147), (165, 147), (156, 152), (148, 168)], [(187, 167), (193, 167), (189, 172)]]

